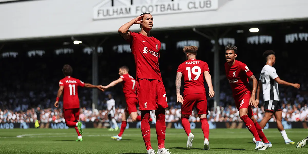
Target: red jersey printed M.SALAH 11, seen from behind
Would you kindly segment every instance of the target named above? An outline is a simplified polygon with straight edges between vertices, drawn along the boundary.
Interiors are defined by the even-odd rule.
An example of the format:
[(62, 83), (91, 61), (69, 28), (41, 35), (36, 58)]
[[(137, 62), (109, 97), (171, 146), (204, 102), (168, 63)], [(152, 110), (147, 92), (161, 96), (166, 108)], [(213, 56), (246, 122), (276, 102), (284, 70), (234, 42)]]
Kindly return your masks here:
[(63, 108), (79, 108), (78, 86), (84, 87), (84, 83), (79, 79), (67, 76), (59, 81), (59, 86), (63, 86)]

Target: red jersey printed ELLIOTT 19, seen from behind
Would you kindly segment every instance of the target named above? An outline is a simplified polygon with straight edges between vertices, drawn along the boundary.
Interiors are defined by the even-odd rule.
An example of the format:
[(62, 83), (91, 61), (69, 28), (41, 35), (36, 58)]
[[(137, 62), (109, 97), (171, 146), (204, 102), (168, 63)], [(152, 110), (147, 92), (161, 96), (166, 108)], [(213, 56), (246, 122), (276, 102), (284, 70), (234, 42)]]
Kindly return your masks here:
[(210, 71), (208, 63), (198, 59), (189, 59), (180, 64), (176, 72), (184, 77), (184, 95), (205, 94), (204, 72)]

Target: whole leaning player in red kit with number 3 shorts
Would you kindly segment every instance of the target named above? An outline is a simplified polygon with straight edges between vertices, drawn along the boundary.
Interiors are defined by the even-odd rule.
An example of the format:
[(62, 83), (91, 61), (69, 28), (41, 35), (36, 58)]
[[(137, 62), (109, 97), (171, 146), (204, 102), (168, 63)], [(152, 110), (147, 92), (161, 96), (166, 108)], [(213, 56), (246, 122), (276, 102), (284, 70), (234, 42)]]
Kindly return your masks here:
[[(246, 64), (235, 60), (236, 57), (237, 47), (232, 44), (227, 45), (225, 47), (225, 58), (227, 61), (225, 63), (225, 71), (232, 88), (235, 105), (240, 112), (241, 120), (243, 120), (248, 130), (256, 138), (255, 149), (265, 150), (266, 148), (270, 148), (272, 144), (265, 137), (251, 110), (251, 106), (254, 106), (255, 102), (258, 81)], [(249, 87), (249, 79), (253, 81), (252, 91)]]

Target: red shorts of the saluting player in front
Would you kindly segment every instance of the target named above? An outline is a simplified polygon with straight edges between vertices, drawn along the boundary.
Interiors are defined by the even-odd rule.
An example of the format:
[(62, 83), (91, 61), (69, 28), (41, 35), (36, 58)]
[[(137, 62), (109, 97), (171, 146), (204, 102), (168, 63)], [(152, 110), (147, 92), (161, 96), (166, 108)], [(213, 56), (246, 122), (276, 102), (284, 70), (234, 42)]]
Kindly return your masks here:
[(136, 92), (140, 111), (168, 107), (167, 95), (162, 81), (137, 79)]

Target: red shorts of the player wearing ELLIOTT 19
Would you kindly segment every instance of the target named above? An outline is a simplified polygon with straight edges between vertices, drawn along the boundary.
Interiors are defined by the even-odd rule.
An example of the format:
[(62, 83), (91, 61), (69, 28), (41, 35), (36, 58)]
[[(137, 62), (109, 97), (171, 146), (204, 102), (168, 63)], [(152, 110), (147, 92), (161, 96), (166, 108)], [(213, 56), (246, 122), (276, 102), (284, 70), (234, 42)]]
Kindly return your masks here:
[(198, 115), (209, 114), (208, 102), (205, 94), (188, 94), (184, 95), (184, 102), (181, 107), (183, 115), (192, 115), (193, 109), (196, 107)]

